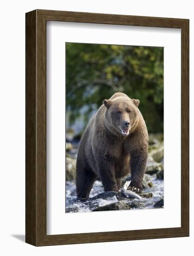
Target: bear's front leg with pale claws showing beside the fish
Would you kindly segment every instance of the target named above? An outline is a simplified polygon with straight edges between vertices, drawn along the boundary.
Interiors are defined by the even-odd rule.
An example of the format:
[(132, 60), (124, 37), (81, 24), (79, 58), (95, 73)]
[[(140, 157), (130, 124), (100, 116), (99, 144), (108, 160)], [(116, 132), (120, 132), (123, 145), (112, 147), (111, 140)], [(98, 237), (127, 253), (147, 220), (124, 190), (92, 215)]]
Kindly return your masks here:
[(135, 192), (142, 191), (142, 183), (146, 172), (147, 151), (135, 150), (131, 153), (131, 183), (129, 189)]

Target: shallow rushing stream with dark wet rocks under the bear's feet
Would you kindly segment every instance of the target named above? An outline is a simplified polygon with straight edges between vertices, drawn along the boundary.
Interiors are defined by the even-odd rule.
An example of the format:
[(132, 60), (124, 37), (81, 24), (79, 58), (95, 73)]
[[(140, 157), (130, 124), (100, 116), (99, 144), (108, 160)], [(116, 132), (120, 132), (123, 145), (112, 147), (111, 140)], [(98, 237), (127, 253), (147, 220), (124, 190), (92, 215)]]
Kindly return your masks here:
[(157, 179), (156, 174), (146, 175), (152, 182), (143, 189), (140, 196), (142, 199), (127, 198), (119, 192), (104, 192), (100, 181), (94, 182), (90, 198), (86, 201), (77, 200), (75, 181), (66, 182), (66, 212), (88, 212), (95, 210), (116, 210), (116, 209), (147, 209), (163, 207), (164, 182)]

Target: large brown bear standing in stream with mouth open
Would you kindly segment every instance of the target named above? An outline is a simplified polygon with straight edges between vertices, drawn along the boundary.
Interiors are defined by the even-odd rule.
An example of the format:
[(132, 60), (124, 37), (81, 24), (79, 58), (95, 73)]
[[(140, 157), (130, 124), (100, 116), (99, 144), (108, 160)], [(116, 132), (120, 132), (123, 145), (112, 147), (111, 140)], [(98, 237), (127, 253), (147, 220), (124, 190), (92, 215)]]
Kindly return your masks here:
[(142, 191), (148, 154), (148, 133), (140, 101), (115, 93), (89, 121), (76, 162), (77, 197), (87, 199), (99, 177), (105, 191), (118, 191), (131, 171), (130, 188)]

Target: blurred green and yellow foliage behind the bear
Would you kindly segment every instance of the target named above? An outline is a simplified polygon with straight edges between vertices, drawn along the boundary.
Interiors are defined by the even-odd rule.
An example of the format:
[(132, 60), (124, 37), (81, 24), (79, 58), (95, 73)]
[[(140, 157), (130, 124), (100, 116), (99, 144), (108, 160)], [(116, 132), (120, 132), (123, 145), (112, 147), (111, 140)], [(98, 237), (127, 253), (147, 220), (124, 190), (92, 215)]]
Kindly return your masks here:
[(70, 124), (115, 92), (140, 100), (148, 132), (163, 132), (163, 47), (66, 43)]

